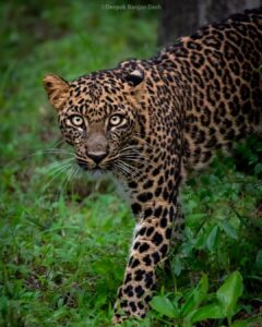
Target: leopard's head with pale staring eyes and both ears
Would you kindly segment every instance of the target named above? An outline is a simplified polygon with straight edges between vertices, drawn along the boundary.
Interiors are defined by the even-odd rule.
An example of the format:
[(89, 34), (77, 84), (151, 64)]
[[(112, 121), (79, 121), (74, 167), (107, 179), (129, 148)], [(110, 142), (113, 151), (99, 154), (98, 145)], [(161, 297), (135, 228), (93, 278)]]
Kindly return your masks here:
[(82, 168), (129, 171), (138, 153), (138, 98), (143, 82), (141, 70), (127, 74), (100, 71), (73, 82), (53, 74), (45, 76), (44, 86), (57, 109), (62, 135), (74, 147)]

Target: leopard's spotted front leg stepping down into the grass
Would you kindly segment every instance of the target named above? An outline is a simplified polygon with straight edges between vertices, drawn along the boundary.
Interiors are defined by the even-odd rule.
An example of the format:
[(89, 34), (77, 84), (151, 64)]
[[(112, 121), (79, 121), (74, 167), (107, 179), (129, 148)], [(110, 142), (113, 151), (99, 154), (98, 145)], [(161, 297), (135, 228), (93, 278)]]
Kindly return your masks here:
[(176, 205), (166, 201), (147, 202), (135, 227), (130, 259), (118, 290), (114, 323), (145, 316), (156, 283), (156, 267), (169, 249)]

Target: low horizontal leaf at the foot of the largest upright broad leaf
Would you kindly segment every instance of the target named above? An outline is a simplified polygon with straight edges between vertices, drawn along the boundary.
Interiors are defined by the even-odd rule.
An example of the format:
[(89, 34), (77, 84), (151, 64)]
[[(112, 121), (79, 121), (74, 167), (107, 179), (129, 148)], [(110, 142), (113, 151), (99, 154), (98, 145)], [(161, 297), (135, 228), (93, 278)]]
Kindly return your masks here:
[(194, 311), (191, 316), (191, 323), (198, 323), (205, 319), (221, 319), (224, 318), (223, 308), (218, 303), (204, 305)]

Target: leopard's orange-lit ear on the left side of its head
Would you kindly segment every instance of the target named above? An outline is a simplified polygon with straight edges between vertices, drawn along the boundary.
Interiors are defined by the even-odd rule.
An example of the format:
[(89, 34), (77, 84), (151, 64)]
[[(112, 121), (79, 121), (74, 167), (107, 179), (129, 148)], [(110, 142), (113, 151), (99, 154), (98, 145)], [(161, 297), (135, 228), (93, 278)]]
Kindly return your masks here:
[(53, 108), (61, 110), (69, 97), (69, 83), (55, 74), (44, 77), (44, 86)]

